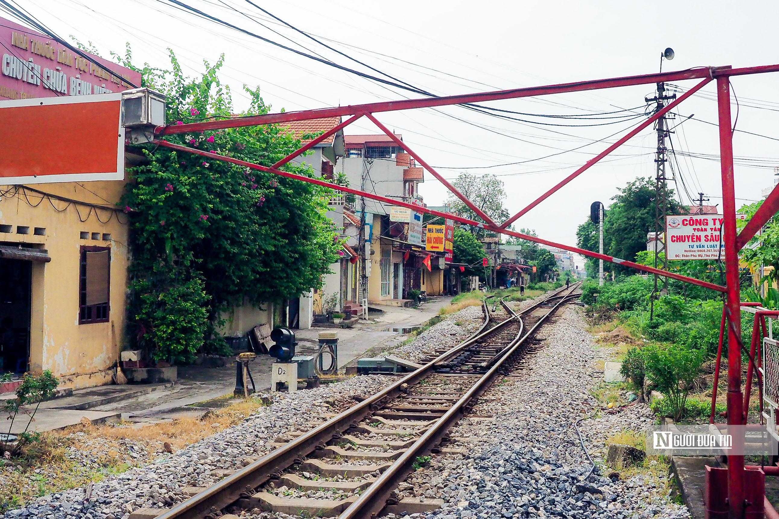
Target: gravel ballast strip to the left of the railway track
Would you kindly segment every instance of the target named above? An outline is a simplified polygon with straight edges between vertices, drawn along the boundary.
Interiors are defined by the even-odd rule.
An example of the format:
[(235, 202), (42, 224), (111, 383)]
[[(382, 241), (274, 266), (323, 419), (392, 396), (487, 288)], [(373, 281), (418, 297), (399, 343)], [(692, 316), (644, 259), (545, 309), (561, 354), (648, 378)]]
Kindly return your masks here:
[[(267, 445), (291, 431), (312, 429), (314, 416), (340, 412), (379, 391), (395, 377), (355, 377), (309, 391), (263, 394), (273, 404), (260, 409), (238, 426), (189, 445), (174, 454), (162, 454), (153, 464), (131, 468), (87, 488), (43, 496), (26, 507), (3, 516), (46, 519), (128, 519), (142, 507), (167, 508), (188, 498), (185, 486), (210, 486), (220, 477), (217, 469), (235, 470), (247, 458), (259, 458), (273, 450)], [(324, 421), (324, 417), (319, 421)], [(87, 496), (89, 493), (89, 496)]]

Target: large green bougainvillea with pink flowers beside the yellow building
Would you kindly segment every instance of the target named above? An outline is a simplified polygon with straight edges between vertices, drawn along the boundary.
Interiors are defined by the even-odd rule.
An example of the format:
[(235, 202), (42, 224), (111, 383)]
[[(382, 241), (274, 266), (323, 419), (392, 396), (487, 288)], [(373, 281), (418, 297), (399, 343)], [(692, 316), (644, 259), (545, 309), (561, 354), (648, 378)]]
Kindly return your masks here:
[[(196, 79), (183, 75), (172, 51), (170, 72), (142, 69), (144, 84), (167, 95), (168, 121), (234, 116), (230, 89), (217, 75), (223, 58), (206, 62)], [(242, 115), (269, 112), (259, 89), (245, 90), (251, 104)], [(273, 124), (167, 140), (266, 166), (300, 146)], [(135, 335), (153, 358), (185, 362), (218, 347), (213, 329), (227, 307), (319, 288), (337, 261), (339, 244), (325, 216), (330, 189), (162, 147), (143, 153), (148, 161), (132, 168), (124, 204), (133, 236), (130, 310)], [(307, 166), (284, 169), (313, 175)]]

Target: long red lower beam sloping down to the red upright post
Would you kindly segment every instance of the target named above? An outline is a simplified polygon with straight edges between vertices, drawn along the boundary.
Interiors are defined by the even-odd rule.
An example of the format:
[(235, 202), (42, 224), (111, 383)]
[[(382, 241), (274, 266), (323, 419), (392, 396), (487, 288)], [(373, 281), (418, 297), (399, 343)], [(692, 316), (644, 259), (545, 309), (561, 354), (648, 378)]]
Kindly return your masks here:
[(579, 247), (573, 247), (571, 245), (558, 244), (555, 243), (554, 241), (544, 240), (542, 238), (529, 236), (523, 233), (517, 233), (516, 231), (513, 230), (501, 229), (499, 226), (495, 226), (495, 225), (485, 225), (484, 223), (477, 222), (476, 220), (463, 218), (462, 216), (456, 216), (453, 214), (449, 214), (448, 212), (435, 211), (433, 209), (422, 207), (421, 205), (409, 204), (407, 202), (402, 202), (400, 200), (395, 200), (393, 198), (387, 198), (386, 196), (368, 193), (367, 191), (360, 191), (359, 189), (347, 188), (346, 186), (340, 186), (338, 184), (333, 184), (332, 182), (326, 182), (320, 180), (319, 178), (305, 177), (303, 175), (289, 173), (288, 171), (277, 170), (272, 167), (260, 166), (259, 164), (246, 162), (245, 160), (234, 159), (232, 157), (219, 155), (217, 153), (206, 152), (203, 151), (202, 149), (187, 148), (186, 146), (173, 144), (172, 142), (161, 141), (159, 139), (155, 139), (153, 141), (153, 144), (156, 144), (158, 146), (166, 146), (167, 148), (175, 149), (177, 151), (181, 151), (185, 153), (193, 153), (195, 155), (205, 156), (212, 160), (222, 160), (224, 162), (237, 164), (238, 166), (249, 167), (252, 168), (252, 170), (259, 170), (259, 171), (265, 171), (267, 173), (277, 174), (280, 175), (281, 177), (287, 177), (301, 182), (308, 182), (308, 184), (316, 184), (319, 186), (323, 186), (325, 188), (334, 189), (335, 191), (344, 191), (345, 193), (351, 193), (352, 195), (364, 196), (365, 198), (370, 198), (372, 200), (384, 202), (388, 205), (399, 205), (400, 207), (407, 207), (408, 209), (414, 209), (414, 211), (417, 212), (425, 212), (433, 216), (441, 216), (444, 219), (452, 219), (456, 222), (480, 227), (481, 229), (492, 230), (495, 231), (496, 233), (506, 234), (508, 236), (521, 238), (523, 240), (534, 241), (535, 243), (549, 245), (550, 247), (558, 247), (560, 249), (563, 249), (564, 251), (576, 252), (577, 254), (582, 254), (583, 256), (590, 256), (590, 258), (602, 259), (604, 261), (609, 261), (611, 263), (617, 263), (619, 265), (635, 268), (636, 270), (640, 270), (643, 272), (649, 272), (650, 274), (664, 275), (671, 279), (678, 279), (679, 281), (693, 283), (693, 285), (703, 286), (704, 288), (717, 290), (718, 292), (725, 291), (724, 286), (719, 286), (719, 285), (715, 285), (714, 283), (701, 281), (700, 279), (689, 278), (686, 275), (675, 274), (674, 272), (666, 272), (658, 268), (647, 267), (647, 265), (639, 265), (637, 263), (633, 263), (633, 261), (626, 261), (623, 259), (614, 258), (612, 256), (607, 256), (606, 254), (598, 254), (597, 252), (585, 251), (584, 249), (580, 249)]

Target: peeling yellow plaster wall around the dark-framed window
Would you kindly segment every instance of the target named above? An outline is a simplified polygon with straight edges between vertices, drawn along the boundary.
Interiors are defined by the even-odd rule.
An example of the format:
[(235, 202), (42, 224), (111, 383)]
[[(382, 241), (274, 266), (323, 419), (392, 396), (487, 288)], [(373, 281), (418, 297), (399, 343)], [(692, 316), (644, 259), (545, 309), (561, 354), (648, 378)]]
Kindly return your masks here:
[[(124, 186), (125, 181), (93, 181), (34, 187), (52, 195), (115, 207)], [(3, 191), (9, 188), (2, 186)], [(33, 262), (30, 370), (51, 370), (60, 378), (60, 388), (111, 383), (112, 366), (118, 360), (125, 335), (129, 255), (126, 221), (123, 212), (91, 209), (56, 199), (50, 202), (29, 191), (26, 196), (19, 192), (0, 202), (0, 223), (13, 226), (12, 233), (0, 233), (0, 241), (37, 244), (48, 250), (51, 257), (49, 263)], [(16, 233), (17, 226), (29, 226), (30, 233)], [(45, 235), (33, 234), (33, 227), (43, 227)], [(89, 239), (81, 239), (82, 232), (89, 233)], [(100, 239), (92, 240), (92, 233), (100, 233)], [(111, 234), (111, 238), (103, 240), (104, 233)], [(111, 311), (106, 323), (79, 324), (82, 245), (111, 247)]]

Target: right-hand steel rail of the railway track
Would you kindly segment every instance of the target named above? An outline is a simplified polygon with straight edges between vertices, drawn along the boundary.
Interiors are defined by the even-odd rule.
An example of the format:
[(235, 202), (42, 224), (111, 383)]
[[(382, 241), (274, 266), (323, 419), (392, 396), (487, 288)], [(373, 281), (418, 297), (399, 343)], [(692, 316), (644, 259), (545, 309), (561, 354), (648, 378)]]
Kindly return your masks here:
[[(534, 330), (543, 323), (547, 317), (554, 314), (555, 310), (562, 305), (560, 300), (552, 307), (547, 314), (545, 314), (538, 323), (534, 326)], [(526, 313), (523, 310), (523, 313)], [(511, 317), (512, 320), (514, 317)], [(371, 486), (360, 494), (358, 499), (351, 503), (351, 506), (344, 510), (338, 519), (372, 519), (376, 517), (384, 507), (387, 505), (387, 500), (394, 489), (402, 482), (411, 468), (414, 466), (414, 461), (419, 456), (423, 456), (430, 452), (435, 445), (438, 445), (442, 438), (445, 436), (446, 431), (449, 430), (460, 418), (471, 408), (471, 402), (474, 398), (478, 398), (479, 395), (487, 390), (492, 380), (498, 375), (499, 370), (502, 368), (506, 359), (511, 356), (530, 337), (530, 332), (526, 333), (522, 337), (517, 336), (513, 342), (511, 349), (506, 352), (506, 355), (502, 357), (499, 363), (492, 366), (490, 370), (485, 373), (473, 386), (458, 400), (444, 415), (439, 418), (434, 425), (430, 426), (428, 430), (417, 440), (411, 447), (408, 447), (400, 458), (390, 465), (386, 471), (382, 472), (382, 475), (376, 479)]]

